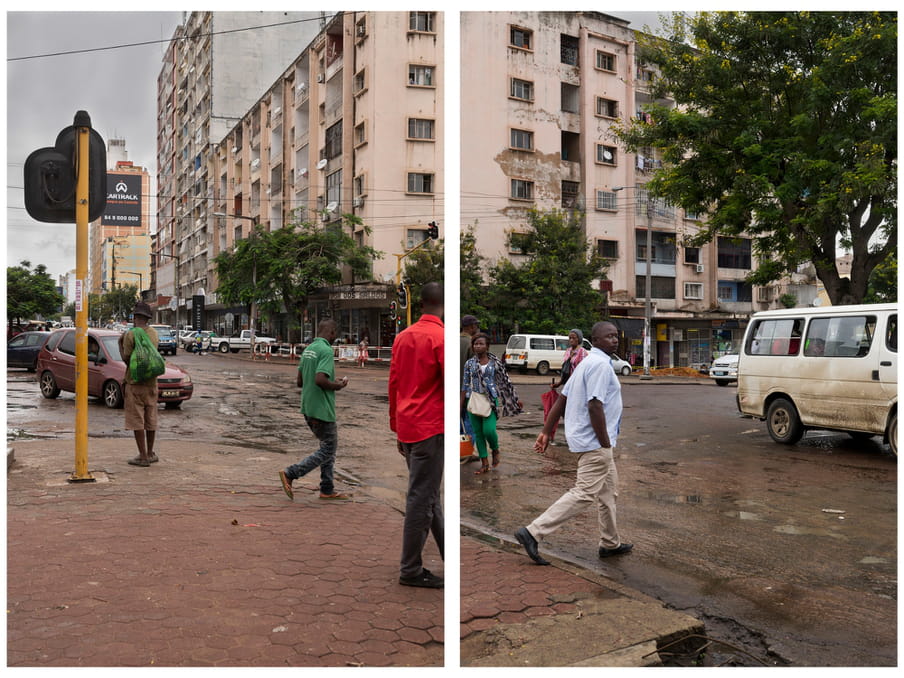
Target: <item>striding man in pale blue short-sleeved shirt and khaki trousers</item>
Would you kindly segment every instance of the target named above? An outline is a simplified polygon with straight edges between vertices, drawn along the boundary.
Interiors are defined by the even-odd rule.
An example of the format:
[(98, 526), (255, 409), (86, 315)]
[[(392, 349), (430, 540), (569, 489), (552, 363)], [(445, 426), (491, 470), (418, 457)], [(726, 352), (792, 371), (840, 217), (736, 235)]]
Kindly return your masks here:
[(590, 342), (593, 348), (568, 379), (534, 445), (538, 453), (546, 451), (553, 422), (564, 413), (568, 449), (580, 455), (574, 487), (530, 525), (515, 532), (515, 539), (538, 565), (549, 565), (540, 555), (539, 542), (591, 504), (596, 504), (599, 518), (599, 557), (627, 553), (634, 548), (633, 544), (622, 543), (615, 516), (618, 472), (613, 450), (621, 423), (622, 399), (610, 356), (618, 348), (618, 329), (610, 322), (598, 322), (593, 326)]

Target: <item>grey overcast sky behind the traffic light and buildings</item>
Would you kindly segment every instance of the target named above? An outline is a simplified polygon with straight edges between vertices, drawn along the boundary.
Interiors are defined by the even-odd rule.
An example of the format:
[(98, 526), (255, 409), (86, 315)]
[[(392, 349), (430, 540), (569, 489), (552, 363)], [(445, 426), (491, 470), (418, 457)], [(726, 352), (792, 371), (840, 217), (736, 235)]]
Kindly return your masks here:
[[(659, 26), (655, 12), (616, 15), (633, 28)], [(44, 264), (56, 280), (75, 268), (75, 224), (42, 223), (28, 215), (25, 159), (53, 146), (76, 111), (85, 110), (105, 142), (125, 139), (128, 159), (150, 171), (156, 190), (157, 76), (182, 12), (8, 12), (5, 19), (6, 263)], [(12, 60), (144, 42), (154, 44)]]

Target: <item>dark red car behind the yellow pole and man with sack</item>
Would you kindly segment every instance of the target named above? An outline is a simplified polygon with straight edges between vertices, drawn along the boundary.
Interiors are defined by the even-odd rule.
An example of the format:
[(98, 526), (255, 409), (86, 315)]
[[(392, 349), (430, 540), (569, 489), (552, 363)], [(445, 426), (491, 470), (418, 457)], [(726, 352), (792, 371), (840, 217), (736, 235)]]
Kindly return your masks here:
[[(126, 364), (119, 353), (119, 332), (88, 330), (88, 395), (101, 398), (107, 407), (122, 407)], [(38, 383), (41, 395), (56, 398), (60, 391), (75, 393), (75, 330), (56, 330), (38, 353)], [(158, 402), (167, 409), (179, 407), (192, 396), (194, 386), (188, 372), (166, 364), (157, 377)]]

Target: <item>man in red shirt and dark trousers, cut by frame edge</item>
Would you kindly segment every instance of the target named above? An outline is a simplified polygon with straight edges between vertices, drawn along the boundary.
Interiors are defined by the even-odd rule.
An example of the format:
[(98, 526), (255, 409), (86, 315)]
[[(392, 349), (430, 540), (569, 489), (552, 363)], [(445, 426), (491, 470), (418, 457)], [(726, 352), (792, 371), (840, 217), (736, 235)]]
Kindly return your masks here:
[(443, 588), (443, 579), (423, 566), (427, 534), (443, 555), (443, 286), (421, 290), (423, 315), (396, 336), (389, 367), (389, 428), (408, 466), (408, 496), (402, 532), (399, 583)]

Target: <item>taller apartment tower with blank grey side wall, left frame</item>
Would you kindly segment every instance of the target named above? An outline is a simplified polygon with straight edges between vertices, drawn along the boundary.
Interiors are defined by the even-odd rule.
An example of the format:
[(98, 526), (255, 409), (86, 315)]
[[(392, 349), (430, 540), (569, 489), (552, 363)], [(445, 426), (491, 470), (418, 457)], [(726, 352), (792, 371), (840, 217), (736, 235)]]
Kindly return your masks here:
[(190, 12), (176, 28), (157, 79), (157, 231), (151, 279), (157, 320), (190, 324), (193, 306), (203, 305), (210, 289), (211, 148), (322, 30), (328, 16)]

